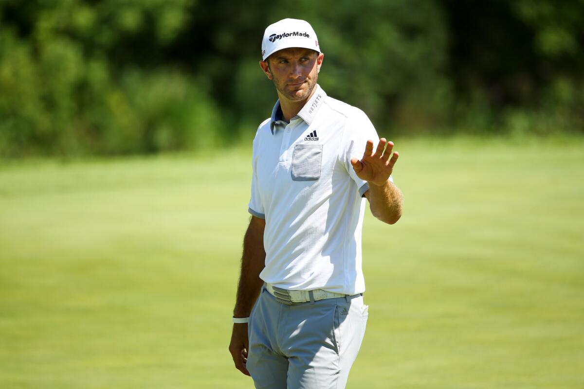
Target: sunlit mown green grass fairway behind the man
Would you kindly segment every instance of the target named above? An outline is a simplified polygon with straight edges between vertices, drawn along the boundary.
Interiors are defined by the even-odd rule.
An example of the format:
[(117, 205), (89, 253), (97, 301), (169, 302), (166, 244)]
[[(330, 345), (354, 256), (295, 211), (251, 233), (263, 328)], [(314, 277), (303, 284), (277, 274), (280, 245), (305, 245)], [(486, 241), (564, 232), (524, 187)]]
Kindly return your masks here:
[[(584, 140), (396, 149), (347, 387), (584, 387)], [(227, 351), (250, 154), (0, 165), (0, 388), (253, 388)]]

